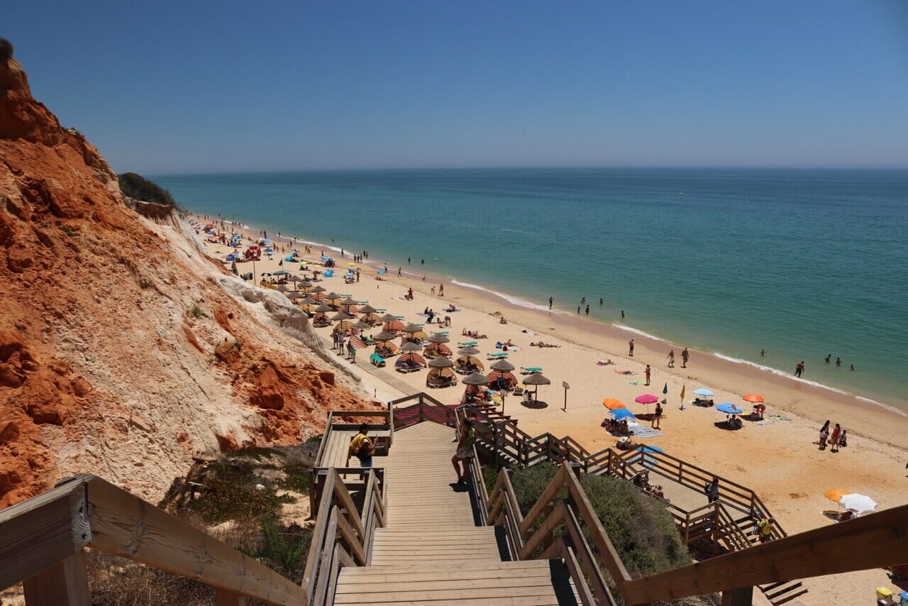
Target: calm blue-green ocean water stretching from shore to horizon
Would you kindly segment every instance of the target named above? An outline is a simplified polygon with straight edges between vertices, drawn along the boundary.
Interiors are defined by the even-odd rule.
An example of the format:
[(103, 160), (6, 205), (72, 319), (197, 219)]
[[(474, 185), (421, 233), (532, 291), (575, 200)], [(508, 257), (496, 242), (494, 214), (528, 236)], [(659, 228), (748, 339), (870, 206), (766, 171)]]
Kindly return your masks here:
[(392, 272), (410, 256), (415, 273), (528, 305), (554, 295), (569, 313), (585, 296), (603, 322), (625, 310), (629, 328), (782, 373), (804, 360), (804, 379), (908, 409), (908, 171), (153, 178), (192, 211), (270, 236), (368, 249)]

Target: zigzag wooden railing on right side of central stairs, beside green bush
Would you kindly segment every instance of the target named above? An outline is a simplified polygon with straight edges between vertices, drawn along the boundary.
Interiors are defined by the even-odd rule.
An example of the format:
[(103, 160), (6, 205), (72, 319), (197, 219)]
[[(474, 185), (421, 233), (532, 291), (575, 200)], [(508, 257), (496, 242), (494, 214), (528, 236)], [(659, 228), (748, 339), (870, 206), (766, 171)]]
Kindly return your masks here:
[[(559, 500), (562, 492), (565, 498)], [(630, 576), (567, 462), (561, 464), (526, 517), (521, 515), (506, 469), (498, 472), (488, 508), (487, 523), (504, 527), (516, 559), (563, 559), (584, 606), (616, 604), (598, 561), (605, 564), (619, 588)], [(592, 537), (596, 551), (584, 531)]]

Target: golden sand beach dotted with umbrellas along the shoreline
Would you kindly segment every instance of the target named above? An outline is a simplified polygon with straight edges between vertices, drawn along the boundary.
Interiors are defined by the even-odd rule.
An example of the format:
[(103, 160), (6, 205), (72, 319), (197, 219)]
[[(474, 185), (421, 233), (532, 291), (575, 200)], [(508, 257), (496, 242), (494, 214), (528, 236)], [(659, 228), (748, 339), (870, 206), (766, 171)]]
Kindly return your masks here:
[[(204, 220), (196, 219), (204, 223)], [(254, 230), (244, 230), (247, 237), (256, 234)], [(291, 244), (286, 239), (275, 244), (283, 246), (284, 251), (302, 250), (302, 245)], [(207, 243), (207, 247), (209, 254), (219, 260), (232, 251), (227, 246), (212, 243)], [(311, 266), (321, 269), (318, 267), (321, 264), (319, 253), (318, 247), (313, 246), (313, 254), (303, 257), (313, 262)], [(255, 263), (257, 273), (261, 275), (279, 269), (280, 260), (286, 254), (276, 253), (271, 260), (263, 257)], [(360, 282), (346, 284), (342, 274), (350, 261), (350, 253), (345, 258), (337, 255), (335, 277), (325, 278), (320, 284), (329, 291), (350, 294), (357, 301), (404, 316), (404, 323), (424, 323), (426, 319), (418, 314), (427, 307), (442, 319), (448, 315), (450, 327), (435, 330), (449, 331), (449, 345), (455, 351), (458, 342), (473, 340), (461, 336), (465, 329), (488, 335), (488, 339), (479, 339), (478, 345), (479, 358), (487, 365), (487, 370), (486, 354), (498, 353), (500, 350), (495, 348), (495, 343), (499, 341), (509, 341), (517, 346), (516, 350), (508, 352), (508, 361), (518, 368), (542, 367), (551, 380), (550, 385), (540, 387), (538, 392), (539, 400), (547, 404), (545, 407), (525, 407), (515, 396), (508, 397), (505, 402), (505, 412), (517, 419), (526, 432), (570, 435), (588, 451), (596, 452), (617, 441), (600, 427), (600, 422), (607, 416), (603, 399), (616, 398), (625, 402), (631, 412), (646, 413), (652, 412), (652, 405), (647, 411), (646, 406), (635, 403), (634, 399), (643, 393), (654, 393), (667, 399), (661, 435), (637, 442), (656, 445), (669, 454), (753, 489), (789, 533), (833, 523), (822, 514), (824, 510), (836, 508), (835, 503), (827, 501), (823, 495), (830, 488), (870, 495), (879, 503), (878, 510), (908, 501), (904, 490), (905, 482), (908, 482), (905, 478), (908, 417), (902, 412), (706, 353), (691, 351), (690, 361), (683, 368), (680, 352), (684, 343), (662, 343), (584, 317), (518, 307), (449, 282), (444, 282), (444, 297), (441, 297), (437, 294), (441, 283), (438, 278), (426, 275), (423, 280), (421, 275), (407, 273), (398, 277), (397, 267), (389, 267), (389, 272), (377, 280), (380, 265), (358, 263)], [(238, 268), (240, 273), (252, 272), (252, 263), (242, 263)], [(300, 273), (299, 268), (299, 263), (289, 262), (283, 267), (296, 274)], [(431, 294), (433, 287), (436, 294)], [(404, 294), (410, 288), (414, 299), (407, 301)], [(445, 312), (449, 303), (456, 305), (459, 311)], [(507, 323), (501, 323), (502, 317)], [(432, 332), (428, 326), (425, 330)], [(331, 346), (331, 328), (317, 329), (317, 332)], [(627, 351), (627, 341), (631, 337), (636, 345), (633, 357)], [(529, 345), (540, 340), (558, 347)], [(666, 353), (671, 348), (676, 352), (675, 368), (666, 366)], [(356, 365), (368, 367), (372, 351), (371, 347), (360, 350)], [(597, 365), (597, 361), (607, 359), (615, 364)], [(389, 362), (386, 370), (393, 373), (393, 360)], [(642, 384), (646, 364), (652, 369), (650, 386)], [(398, 382), (409, 387), (410, 392), (431, 392), (448, 404), (458, 403), (464, 391), (462, 384), (430, 390), (426, 387), (426, 371), (393, 374)], [(402, 387), (397, 389), (382, 384), (368, 368), (362, 375), (364, 388), (374, 392), (379, 399), (404, 395)], [(395, 384), (400, 384), (398, 382)], [(565, 390), (562, 382), (570, 385), (567, 410), (563, 410)], [(665, 385), (667, 395), (663, 396)], [(693, 391), (698, 388), (712, 390), (716, 403), (733, 402), (745, 413), (750, 412), (751, 405), (742, 400), (742, 395), (759, 393), (765, 397), (765, 420), (768, 422), (745, 421), (744, 428), (737, 432), (719, 429), (714, 423), (725, 420), (725, 414), (690, 402), (694, 398)], [(686, 392), (684, 410), (680, 407), (682, 389)], [(841, 452), (821, 451), (814, 444), (820, 426), (827, 419), (840, 423), (848, 431), (848, 446)], [(811, 593), (802, 601), (853, 603), (868, 595), (868, 591), (872, 592), (874, 587), (888, 582), (882, 570), (854, 572), (834, 579), (820, 577), (805, 581)]]

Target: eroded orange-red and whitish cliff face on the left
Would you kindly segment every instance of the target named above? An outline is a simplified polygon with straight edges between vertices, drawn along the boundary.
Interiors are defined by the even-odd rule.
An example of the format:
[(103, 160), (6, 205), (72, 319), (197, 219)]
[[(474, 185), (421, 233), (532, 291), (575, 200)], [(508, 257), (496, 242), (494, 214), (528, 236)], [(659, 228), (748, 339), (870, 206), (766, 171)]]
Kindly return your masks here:
[(0, 508), (73, 472), (157, 499), (193, 456), (374, 407), (307, 331), (174, 217), (127, 208), (97, 150), (0, 64)]

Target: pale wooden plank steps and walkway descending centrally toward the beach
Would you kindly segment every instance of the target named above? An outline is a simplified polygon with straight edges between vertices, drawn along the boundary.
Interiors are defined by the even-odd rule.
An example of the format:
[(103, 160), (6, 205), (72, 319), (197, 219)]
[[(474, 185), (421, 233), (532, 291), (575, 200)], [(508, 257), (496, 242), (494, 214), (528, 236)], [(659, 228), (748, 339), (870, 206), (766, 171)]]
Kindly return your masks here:
[(385, 467), (387, 520), (370, 561), (344, 567), (335, 604), (577, 604), (560, 560), (507, 561), (496, 528), (451, 467), (454, 430), (420, 422), (395, 432)]

